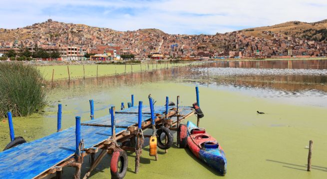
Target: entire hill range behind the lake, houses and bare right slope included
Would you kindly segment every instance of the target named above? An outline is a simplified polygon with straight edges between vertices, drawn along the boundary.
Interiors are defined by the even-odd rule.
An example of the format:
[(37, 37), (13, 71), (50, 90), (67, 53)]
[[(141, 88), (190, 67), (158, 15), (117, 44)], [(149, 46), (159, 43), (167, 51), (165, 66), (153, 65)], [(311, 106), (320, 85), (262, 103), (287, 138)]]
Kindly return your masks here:
[[(159, 29), (116, 31), (48, 19), (16, 29), (0, 28), (0, 53), (35, 45), (41, 48), (76, 47), (91, 52), (98, 46), (115, 47), (117, 54), (136, 57), (269, 58), (325, 56), (327, 20), (290, 21), (215, 35), (167, 34)], [(99, 51), (99, 50), (98, 50)], [(97, 51), (97, 52), (98, 52)], [(65, 54), (62, 54), (62, 56)]]

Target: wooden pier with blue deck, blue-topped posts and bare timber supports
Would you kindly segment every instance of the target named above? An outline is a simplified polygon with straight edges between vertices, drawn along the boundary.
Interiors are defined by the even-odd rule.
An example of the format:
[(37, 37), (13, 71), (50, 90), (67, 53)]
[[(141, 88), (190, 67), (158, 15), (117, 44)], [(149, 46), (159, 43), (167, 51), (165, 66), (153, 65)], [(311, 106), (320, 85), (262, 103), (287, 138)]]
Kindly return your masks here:
[[(128, 108), (124, 108), (122, 103), (121, 110), (115, 111), (115, 107), (111, 107), (109, 115), (99, 118), (94, 118), (94, 104), (93, 100), (90, 100), (91, 120), (81, 123), (80, 117), (76, 116), (76, 126), (64, 130), (61, 130), (62, 108), (61, 104), (58, 104), (58, 132), (0, 152), (0, 179), (41, 179), (49, 175), (56, 175), (56, 178), (60, 179), (62, 168), (67, 166), (76, 168), (75, 179), (86, 179), (105, 154), (112, 154), (116, 150), (136, 152), (137, 173), (137, 161), (142, 154), (143, 139), (151, 137), (143, 135), (143, 130), (150, 128), (154, 131), (153, 135), (160, 128), (177, 130), (180, 122), (195, 112), (192, 107), (179, 106), (179, 96), (177, 104), (172, 106), (168, 105), (168, 97), (165, 106), (154, 106), (151, 97), (149, 105), (143, 105), (140, 101), (139, 105), (134, 106), (134, 95), (131, 99)], [(11, 126), (10, 138), (13, 141), (12, 122), (10, 125), (11, 119), (8, 121)], [(118, 145), (126, 141), (134, 143), (135, 146)], [(97, 152), (100, 152), (100, 155), (95, 159)], [(90, 155), (91, 159), (90, 169), (85, 176), (80, 176), (83, 158), (87, 155)]]

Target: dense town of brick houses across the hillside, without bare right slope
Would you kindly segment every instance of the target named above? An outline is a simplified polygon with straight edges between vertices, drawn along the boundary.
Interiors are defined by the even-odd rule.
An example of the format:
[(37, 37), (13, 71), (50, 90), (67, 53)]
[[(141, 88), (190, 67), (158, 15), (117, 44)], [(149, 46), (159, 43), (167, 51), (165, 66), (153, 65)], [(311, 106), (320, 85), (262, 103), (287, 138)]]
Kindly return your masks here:
[[(158, 29), (115, 31), (48, 19), (17, 29), (0, 29), (0, 56), (35, 48), (56, 51), (59, 60), (209, 58), (309, 58), (327, 55), (326, 40), (308, 40), (262, 31), (270, 38), (247, 36), (243, 30), (215, 35), (167, 34)], [(91, 54), (90, 57), (87, 54)]]

